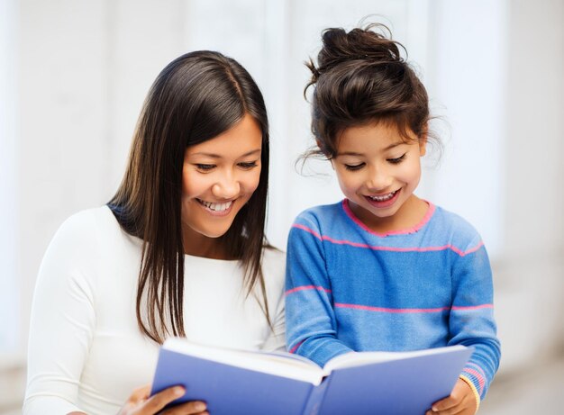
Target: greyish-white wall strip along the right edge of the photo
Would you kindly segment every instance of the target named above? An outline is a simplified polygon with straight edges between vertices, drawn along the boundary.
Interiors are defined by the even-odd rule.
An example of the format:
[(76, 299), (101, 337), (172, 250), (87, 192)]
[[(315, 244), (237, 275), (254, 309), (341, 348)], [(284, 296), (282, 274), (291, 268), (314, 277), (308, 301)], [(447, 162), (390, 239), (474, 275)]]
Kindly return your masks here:
[(513, 369), (564, 339), (564, 2), (512, 1), (508, 37), (496, 312)]

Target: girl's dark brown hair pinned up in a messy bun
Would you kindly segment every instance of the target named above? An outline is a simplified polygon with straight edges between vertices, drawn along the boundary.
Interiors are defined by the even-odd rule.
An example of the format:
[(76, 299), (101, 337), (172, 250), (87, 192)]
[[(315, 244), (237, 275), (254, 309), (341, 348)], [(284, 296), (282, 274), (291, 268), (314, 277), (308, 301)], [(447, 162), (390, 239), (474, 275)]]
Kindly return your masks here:
[(369, 122), (396, 125), (405, 140), (427, 140), (429, 98), (414, 69), (401, 56), (404, 46), (383, 24), (345, 32), (323, 31), (323, 48), (306, 63), (314, 86), (312, 132), (318, 149), (306, 154), (334, 158), (341, 131)]

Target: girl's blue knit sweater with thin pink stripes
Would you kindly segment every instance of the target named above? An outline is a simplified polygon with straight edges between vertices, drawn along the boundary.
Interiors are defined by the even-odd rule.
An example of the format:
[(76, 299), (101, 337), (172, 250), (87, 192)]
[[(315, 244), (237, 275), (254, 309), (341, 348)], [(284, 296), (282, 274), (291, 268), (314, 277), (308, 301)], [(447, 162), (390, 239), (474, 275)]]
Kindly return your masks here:
[(301, 213), (287, 247), (287, 347), (324, 365), (352, 350), (475, 347), (460, 375), (478, 396), (500, 358), (492, 274), (478, 232), (429, 203), (421, 223), (369, 230), (348, 201)]

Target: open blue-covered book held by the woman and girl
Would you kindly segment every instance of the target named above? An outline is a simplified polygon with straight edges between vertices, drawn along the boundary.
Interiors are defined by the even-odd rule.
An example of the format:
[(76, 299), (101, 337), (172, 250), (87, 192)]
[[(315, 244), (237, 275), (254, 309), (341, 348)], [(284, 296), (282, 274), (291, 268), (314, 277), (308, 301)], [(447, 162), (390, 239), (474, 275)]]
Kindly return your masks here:
[(206, 401), (213, 415), (423, 415), (450, 394), (472, 347), (359, 352), (323, 368), (301, 356), (200, 346), (169, 338), (151, 394), (183, 385), (173, 403)]

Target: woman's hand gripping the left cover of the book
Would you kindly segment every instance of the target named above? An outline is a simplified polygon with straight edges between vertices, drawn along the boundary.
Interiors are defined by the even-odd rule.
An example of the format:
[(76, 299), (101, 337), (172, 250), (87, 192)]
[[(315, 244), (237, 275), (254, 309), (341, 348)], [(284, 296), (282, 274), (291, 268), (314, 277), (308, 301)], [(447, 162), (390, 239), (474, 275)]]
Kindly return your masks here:
[(182, 396), (184, 392), (182, 386), (175, 386), (149, 397), (150, 385), (143, 386), (133, 391), (132, 396), (125, 402), (118, 415), (154, 415), (156, 413), (162, 415), (208, 415), (208, 412), (205, 411), (205, 402), (202, 401), (181, 403), (159, 412), (168, 403)]

